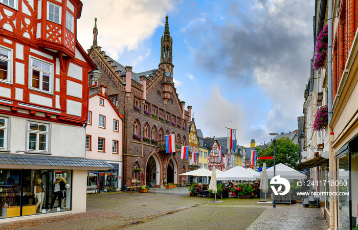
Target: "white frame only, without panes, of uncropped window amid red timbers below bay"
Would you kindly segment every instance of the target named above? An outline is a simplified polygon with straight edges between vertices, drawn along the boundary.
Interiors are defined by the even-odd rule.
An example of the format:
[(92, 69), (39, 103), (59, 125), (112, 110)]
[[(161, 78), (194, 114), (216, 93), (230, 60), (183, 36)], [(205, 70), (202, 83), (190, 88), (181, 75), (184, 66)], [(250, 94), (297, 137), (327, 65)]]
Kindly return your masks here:
[[(38, 67), (35, 67), (35, 66), (32, 66), (32, 63), (33, 61), (38, 61), (38, 62), (41, 62), (43, 64), (47, 64), (47, 65), (50, 65), (50, 71), (46, 71), (46, 70), (43, 70), (42, 68), (38, 68)], [(39, 88), (35, 88), (32, 86), (32, 74), (33, 74), (33, 70), (36, 70), (36, 71), (39, 71), (40, 72), (40, 85), (39, 85)], [(41, 59), (38, 59), (38, 58), (35, 58), (35, 57), (32, 57), (30, 56), (30, 64), (29, 64), (29, 72), (30, 72), (30, 78), (29, 78), (29, 88), (30, 89), (33, 89), (33, 90), (36, 90), (36, 91), (40, 91), (42, 93), (46, 93), (46, 94), (52, 94), (52, 85), (53, 85), (53, 64), (51, 62), (48, 62), (48, 61), (44, 61), (44, 60), (41, 60)], [(43, 86), (43, 74), (49, 74), (50, 75), (50, 78), (49, 78), (49, 91), (47, 90), (43, 90), (42, 89), (42, 86)]]

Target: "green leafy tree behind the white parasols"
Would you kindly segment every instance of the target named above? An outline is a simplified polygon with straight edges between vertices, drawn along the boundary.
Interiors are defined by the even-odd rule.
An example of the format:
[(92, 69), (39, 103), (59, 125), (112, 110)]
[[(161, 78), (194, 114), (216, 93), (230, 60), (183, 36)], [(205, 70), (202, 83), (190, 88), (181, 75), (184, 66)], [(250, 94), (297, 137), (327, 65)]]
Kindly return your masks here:
[[(298, 169), (299, 159), (299, 148), (298, 144), (292, 143), (288, 137), (282, 137), (276, 141), (276, 165), (285, 164), (294, 169)], [(269, 148), (261, 149), (257, 156), (273, 156), (274, 155), (274, 143), (271, 142)], [(262, 167), (263, 163), (266, 162), (266, 167), (274, 166), (274, 159), (263, 159), (257, 161), (259, 167)]]

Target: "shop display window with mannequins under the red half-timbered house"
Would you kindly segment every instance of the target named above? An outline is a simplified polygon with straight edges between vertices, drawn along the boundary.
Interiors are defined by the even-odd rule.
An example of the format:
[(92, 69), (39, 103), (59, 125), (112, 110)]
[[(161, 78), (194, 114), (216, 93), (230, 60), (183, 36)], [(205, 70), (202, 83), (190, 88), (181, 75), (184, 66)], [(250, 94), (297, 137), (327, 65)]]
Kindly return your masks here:
[(0, 218), (71, 210), (71, 170), (0, 169)]

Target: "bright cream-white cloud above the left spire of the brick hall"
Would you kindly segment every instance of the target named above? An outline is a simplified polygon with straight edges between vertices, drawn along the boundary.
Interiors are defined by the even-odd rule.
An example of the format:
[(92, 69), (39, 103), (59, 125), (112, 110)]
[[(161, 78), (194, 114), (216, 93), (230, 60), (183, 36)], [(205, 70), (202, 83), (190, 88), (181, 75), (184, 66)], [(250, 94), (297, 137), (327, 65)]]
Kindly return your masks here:
[[(150, 38), (155, 29), (163, 26), (165, 15), (177, 0), (83, 0), (81, 18), (77, 20), (77, 38), (82, 47), (89, 49), (93, 41), (94, 18), (97, 17), (98, 45), (113, 58), (125, 50), (148, 54), (141, 42)], [(142, 53), (143, 54), (143, 53)], [(133, 60), (137, 63), (140, 61)]]

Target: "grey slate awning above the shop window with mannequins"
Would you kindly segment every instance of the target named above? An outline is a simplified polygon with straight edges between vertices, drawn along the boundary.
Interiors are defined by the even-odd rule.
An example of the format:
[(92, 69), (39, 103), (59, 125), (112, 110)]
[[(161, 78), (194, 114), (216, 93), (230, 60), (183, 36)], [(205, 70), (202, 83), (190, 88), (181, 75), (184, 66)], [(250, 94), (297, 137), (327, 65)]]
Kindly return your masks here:
[(113, 168), (105, 160), (76, 157), (0, 154), (0, 168), (11, 169), (74, 169), (108, 170)]

